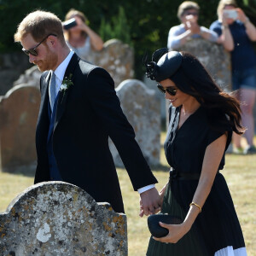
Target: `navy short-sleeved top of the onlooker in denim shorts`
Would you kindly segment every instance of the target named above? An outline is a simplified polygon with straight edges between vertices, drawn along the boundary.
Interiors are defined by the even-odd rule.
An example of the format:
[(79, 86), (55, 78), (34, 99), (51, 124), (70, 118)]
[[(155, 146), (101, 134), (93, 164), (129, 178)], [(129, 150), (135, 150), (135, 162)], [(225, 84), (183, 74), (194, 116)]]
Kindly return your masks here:
[[(210, 26), (210, 29), (222, 34), (222, 23), (216, 20)], [(242, 71), (249, 67), (256, 66), (256, 55), (253, 49), (253, 43), (248, 38), (246, 28), (240, 20), (235, 20), (230, 26), (230, 32), (234, 40), (234, 49), (230, 52), (232, 71)]]

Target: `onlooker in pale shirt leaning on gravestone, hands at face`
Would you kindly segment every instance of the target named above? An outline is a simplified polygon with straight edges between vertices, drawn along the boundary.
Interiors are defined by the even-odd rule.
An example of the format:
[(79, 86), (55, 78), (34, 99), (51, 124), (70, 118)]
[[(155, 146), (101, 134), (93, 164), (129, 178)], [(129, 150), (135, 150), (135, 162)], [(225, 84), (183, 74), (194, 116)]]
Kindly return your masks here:
[(190, 38), (204, 38), (217, 42), (218, 35), (205, 26), (198, 25), (200, 7), (191, 1), (183, 2), (177, 9), (177, 18), (181, 21), (178, 26), (172, 26), (168, 35), (167, 48), (178, 49)]

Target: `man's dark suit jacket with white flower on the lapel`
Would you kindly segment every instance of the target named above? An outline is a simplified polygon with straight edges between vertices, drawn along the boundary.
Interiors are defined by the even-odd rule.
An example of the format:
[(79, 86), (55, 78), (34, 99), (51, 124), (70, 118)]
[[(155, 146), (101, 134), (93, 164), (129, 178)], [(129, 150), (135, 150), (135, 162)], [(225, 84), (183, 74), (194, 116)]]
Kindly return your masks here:
[[(72, 73), (73, 85), (60, 91), (53, 131), (55, 160), (63, 181), (73, 183), (96, 201), (109, 202), (124, 212), (118, 176), (108, 147), (108, 137), (119, 151), (135, 190), (157, 183), (139, 148), (133, 128), (120, 108), (113, 79), (107, 71), (74, 54), (64, 77)], [(47, 136), (49, 131), (49, 72), (40, 79), (41, 105), (36, 131), (38, 166), (35, 183), (49, 181)]]

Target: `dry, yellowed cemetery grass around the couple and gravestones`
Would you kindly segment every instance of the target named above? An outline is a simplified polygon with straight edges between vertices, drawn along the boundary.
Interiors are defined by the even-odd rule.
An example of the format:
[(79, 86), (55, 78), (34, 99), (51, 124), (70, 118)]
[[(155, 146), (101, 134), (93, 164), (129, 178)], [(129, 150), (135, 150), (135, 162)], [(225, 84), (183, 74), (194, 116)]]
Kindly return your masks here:
[[(162, 134), (162, 142), (165, 134)], [(256, 137), (255, 137), (256, 139)], [(18, 168), (15, 173), (0, 172), (0, 212), (4, 212), (9, 203), (21, 191), (33, 183), (34, 170)], [(129, 256), (146, 254), (149, 232), (147, 218), (140, 218), (139, 195), (132, 189), (130, 179), (124, 169), (118, 169), (119, 182), (128, 219)], [(161, 147), (160, 166), (153, 168), (161, 189), (168, 181), (169, 166)], [(230, 188), (241, 229), (246, 241), (247, 255), (256, 256), (256, 155), (226, 155), (226, 165), (222, 171)], [(114, 256), (114, 255), (113, 255)]]

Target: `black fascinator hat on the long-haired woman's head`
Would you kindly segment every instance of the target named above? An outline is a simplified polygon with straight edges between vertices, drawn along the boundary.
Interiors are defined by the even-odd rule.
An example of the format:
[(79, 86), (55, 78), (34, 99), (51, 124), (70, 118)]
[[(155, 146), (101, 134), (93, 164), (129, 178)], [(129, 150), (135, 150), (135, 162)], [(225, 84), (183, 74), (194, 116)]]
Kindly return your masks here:
[(157, 49), (152, 55), (152, 61), (148, 62), (148, 56), (144, 56), (146, 76), (151, 80), (161, 81), (169, 79), (182, 64), (183, 55), (178, 51), (169, 51), (167, 48)]

